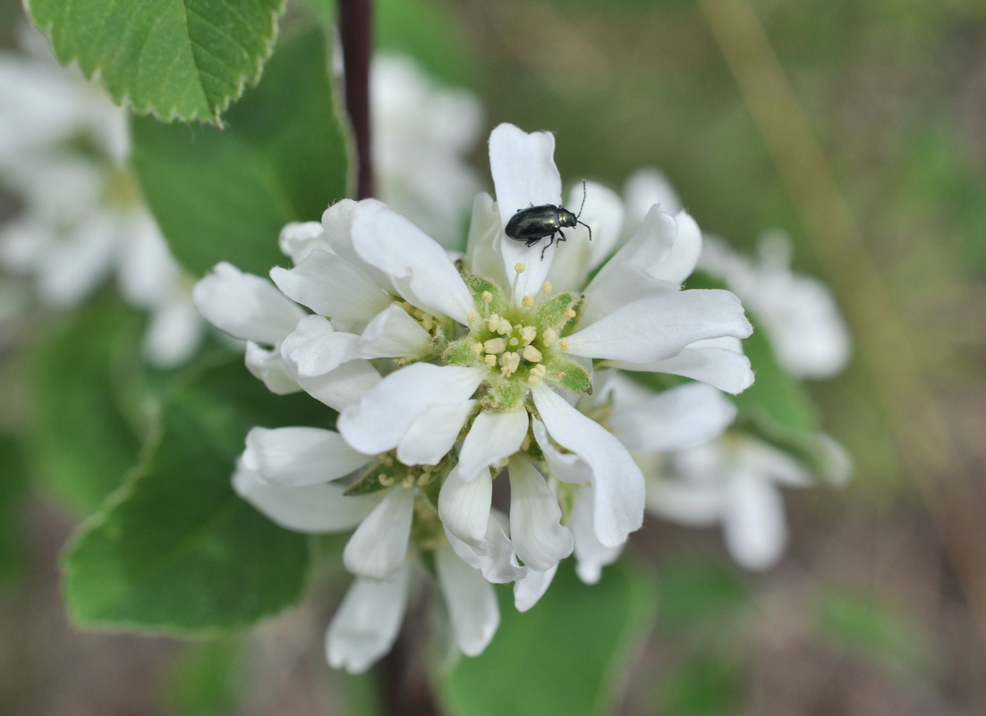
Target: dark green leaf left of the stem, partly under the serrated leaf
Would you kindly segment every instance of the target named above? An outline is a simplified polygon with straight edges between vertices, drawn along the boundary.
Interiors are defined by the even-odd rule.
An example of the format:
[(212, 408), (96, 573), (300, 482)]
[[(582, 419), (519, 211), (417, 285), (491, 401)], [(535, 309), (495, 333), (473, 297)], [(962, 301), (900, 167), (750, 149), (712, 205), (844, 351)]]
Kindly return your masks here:
[(277, 237), (346, 195), (347, 150), (318, 31), (280, 43), (229, 126), (134, 118), (133, 163), (177, 260), (201, 276), (220, 261), (265, 275)]

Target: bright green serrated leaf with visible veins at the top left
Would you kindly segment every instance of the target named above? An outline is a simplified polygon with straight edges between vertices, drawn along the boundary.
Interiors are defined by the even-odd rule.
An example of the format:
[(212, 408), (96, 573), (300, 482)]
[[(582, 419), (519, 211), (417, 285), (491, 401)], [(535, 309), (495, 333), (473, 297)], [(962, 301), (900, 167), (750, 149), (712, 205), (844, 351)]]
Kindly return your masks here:
[(221, 124), (260, 76), (283, 0), (27, 0), (62, 64), (141, 114)]

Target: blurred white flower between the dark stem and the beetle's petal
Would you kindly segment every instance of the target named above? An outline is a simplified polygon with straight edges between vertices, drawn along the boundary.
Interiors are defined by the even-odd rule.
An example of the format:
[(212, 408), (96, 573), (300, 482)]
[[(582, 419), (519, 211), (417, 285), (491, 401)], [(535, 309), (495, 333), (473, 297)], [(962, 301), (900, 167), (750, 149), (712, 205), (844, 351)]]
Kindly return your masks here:
[(464, 90), (436, 87), (408, 57), (378, 55), (370, 78), (378, 196), (443, 246), (461, 248), (480, 188), (465, 161), (483, 111)]

